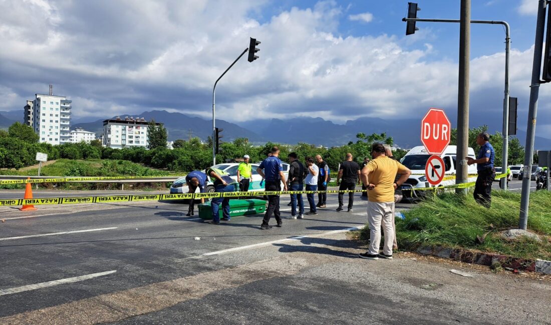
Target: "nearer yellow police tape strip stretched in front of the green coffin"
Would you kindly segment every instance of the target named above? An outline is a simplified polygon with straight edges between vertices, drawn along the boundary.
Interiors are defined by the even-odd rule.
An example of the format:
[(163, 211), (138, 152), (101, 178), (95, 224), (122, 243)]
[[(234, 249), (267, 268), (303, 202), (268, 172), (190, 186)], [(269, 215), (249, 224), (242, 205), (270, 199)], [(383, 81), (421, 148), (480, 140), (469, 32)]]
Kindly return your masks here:
[[(497, 175), (495, 178), (503, 178), (506, 174)], [(475, 182), (453, 184), (446, 186), (435, 186), (433, 188), (412, 188), (420, 190), (440, 190), (451, 188), (470, 188)], [(404, 189), (402, 190), (410, 190)], [(289, 194), (338, 194), (358, 193), (369, 190), (326, 190), (326, 191), (250, 191), (250, 192), (209, 192), (209, 193), (182, 193), (182, 194), (138, 194), (138, 195), (109, 195), (109, 196), (82, 196), (82, 197), (50, 197), (46, 199), (4, 199), (0, 200), (0, 206), (20, 205), (63, 205), (79, 203), (116, 203), (116, 202), (138, 202), (138, 201), (168, 201), (168, 200), (190, 200), (190, 199), (215, 199), (219, 197), (252, 197), (261, 195), (289, 195)]]

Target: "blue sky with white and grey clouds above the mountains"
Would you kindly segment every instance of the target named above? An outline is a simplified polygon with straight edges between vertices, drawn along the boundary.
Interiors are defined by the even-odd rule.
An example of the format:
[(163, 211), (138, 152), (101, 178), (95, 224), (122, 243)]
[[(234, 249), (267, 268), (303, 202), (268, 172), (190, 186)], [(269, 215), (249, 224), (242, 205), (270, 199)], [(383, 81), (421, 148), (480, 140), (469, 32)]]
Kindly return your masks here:
[[(526, 129), (537, 0), (476, 0), (472, 19), (511, 25), (511, 96)], [(35, 93), (73, 100), (73, 117), (152, 109), (231, 122), (313, 116), (422, 118), (429, 107), (456, 120), (458, 24), (418, 23), (406, 36), (407, 1), (0, 0), (0, 111)], [(419, 18), (459, 17), (459, 0), (419, 2)], [(504, 38), (473, 25), (471, 124), (501, 119)], [(551, 136), (551, 85), (540, 92), (537, 134)]]

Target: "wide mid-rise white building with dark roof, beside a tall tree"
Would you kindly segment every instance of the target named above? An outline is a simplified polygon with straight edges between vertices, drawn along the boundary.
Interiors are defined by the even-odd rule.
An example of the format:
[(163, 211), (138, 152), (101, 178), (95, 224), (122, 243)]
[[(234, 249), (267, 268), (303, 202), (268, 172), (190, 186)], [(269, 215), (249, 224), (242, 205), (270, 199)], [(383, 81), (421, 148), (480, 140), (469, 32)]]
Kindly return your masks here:
[[(104, 120), (103, 145), (111, 148), (146, 147), (148, 124), (144, 118)], [(156, 123), (160, 125), (161, 123)]]

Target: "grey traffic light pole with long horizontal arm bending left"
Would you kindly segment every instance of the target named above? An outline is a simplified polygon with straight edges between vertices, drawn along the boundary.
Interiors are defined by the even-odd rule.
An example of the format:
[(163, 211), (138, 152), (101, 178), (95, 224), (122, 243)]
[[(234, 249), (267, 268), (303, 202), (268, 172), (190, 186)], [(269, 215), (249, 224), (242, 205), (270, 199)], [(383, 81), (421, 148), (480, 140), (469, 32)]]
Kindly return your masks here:
[[(459, 19), (422, 19), (403, 18), (403, 21), (427, 21), (431, 23), (460, 23)], [(503, 99), (503, 154), (501, 156), (502, 169), (507, 172), (509, 160), (509, 56), (511, 51), (510, 27), (503, 20), (471, 20), (472, 24), (499, 24), (505, 27), (505, 91)], [(501, 189), (507, 190), (507, 178), (500, 181)]]

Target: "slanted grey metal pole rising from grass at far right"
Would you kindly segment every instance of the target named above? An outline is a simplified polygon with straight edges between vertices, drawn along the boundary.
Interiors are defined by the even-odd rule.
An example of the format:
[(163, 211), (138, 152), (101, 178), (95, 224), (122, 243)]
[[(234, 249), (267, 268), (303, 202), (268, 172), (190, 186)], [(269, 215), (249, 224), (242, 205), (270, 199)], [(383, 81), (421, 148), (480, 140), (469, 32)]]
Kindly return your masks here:
[(524, 175), (522, 177), (522, 194), (520, 200), (520, 217), (518, 228), (525, 229), (528, 224), (528, 203), (530, 202), (530, 183), (532, 172), (532, 155), (534, 152), (534, 135), (536, 134), (536, 115), (538, 111), (539, 74), (542, 69), (543, 30), (545, 29), (545, 7), (547, 2), (538, 2), (538, 20), (536, 23), (536, 40), (534, 40), (534, 60), (532, 63), (532, 84), (530, 85), (530, 107), (528, 107), (528, 127), (526, 129), (526, 146), (524, 153)]

